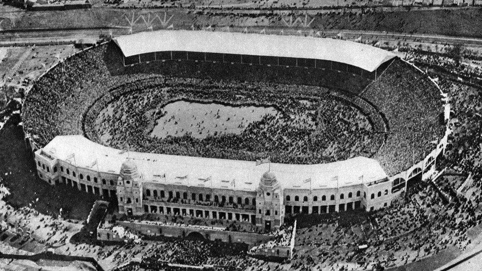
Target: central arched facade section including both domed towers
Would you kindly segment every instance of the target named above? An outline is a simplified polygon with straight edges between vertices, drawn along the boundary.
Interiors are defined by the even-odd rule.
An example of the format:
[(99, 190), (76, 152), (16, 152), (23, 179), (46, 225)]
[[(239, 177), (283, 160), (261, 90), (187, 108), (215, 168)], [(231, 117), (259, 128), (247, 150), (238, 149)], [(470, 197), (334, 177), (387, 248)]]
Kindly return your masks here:
[[(215, 181), (217, 180), (213, 180)], [(161, 195), (165, 197), (159, 197), (153, 202), (146, 196), (143, 186), (162, 191)], [(202, 193), (209, 193), (210, 196), (206, 194), (203, 200), (199, 201), (195, 195)], [(252, 200), (249, 201), (248, 197)], [(248, 204), (244, 204), (243, 198)], [(251, 222), (266, 230), (279, 228), (284, 220), (282, 189), (272, 172), (265, 172), (261, 176), (258, 188), (254, 191), (226, 187), (206, 188), (146, 180), (138, 171), (134, 160), (127, 159), (121, 165), (117, 199), (119, 212), (129, 216), (149, 213), (151, 206), (156, 204), (155, 210), (162, 210), (163, 214)]]

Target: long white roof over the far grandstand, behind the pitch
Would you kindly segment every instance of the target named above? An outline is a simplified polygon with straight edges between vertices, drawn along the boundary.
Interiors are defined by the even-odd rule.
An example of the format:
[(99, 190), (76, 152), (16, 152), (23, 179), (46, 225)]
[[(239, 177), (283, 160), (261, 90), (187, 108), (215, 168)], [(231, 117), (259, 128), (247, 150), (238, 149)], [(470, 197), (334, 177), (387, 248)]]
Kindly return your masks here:
[(370, 45), (314, 37), (230, 32), (161, 30), (114, 39), (124, 56), (157, 51), (190, 51), (282, 56), (341, 62), (373, 72), (395, 54)]

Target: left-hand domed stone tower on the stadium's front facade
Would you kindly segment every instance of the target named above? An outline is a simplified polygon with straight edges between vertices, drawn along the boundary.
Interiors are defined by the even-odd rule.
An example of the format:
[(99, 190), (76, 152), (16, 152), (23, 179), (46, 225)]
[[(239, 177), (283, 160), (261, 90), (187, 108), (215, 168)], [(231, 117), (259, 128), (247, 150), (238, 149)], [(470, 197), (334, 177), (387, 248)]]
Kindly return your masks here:
[(117, 201), (119, 202), (119, 213), (127, 215), (141, 215), (142, 175), (132, 159), (126, 159), (121, 165), (121, 172), (117, 180)]

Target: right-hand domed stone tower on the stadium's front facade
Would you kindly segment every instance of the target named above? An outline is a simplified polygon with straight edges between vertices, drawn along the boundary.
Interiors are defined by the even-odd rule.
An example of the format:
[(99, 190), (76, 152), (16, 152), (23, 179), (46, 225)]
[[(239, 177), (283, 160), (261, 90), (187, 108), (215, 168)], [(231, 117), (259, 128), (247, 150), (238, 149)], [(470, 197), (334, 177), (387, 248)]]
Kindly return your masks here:
[(265, 172), (256, 189), (256, 225), (270, 231), (280, 228), (284, 213), (281, 201), (281, 189), (275, 174)]

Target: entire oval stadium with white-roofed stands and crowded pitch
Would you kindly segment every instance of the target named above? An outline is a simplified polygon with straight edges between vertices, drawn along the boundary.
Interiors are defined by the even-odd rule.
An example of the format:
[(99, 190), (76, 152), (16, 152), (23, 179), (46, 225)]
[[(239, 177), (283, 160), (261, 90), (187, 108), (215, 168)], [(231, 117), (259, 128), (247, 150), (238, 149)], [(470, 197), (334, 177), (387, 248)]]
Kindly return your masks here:
[(117, 200), (128, 216), (271, 231), (297, 214), (386, 208), (430, 178), (447, 144), (444, 98), (361, 43), (155, 31), (58, 63), (22, 115), (51, 185)]

